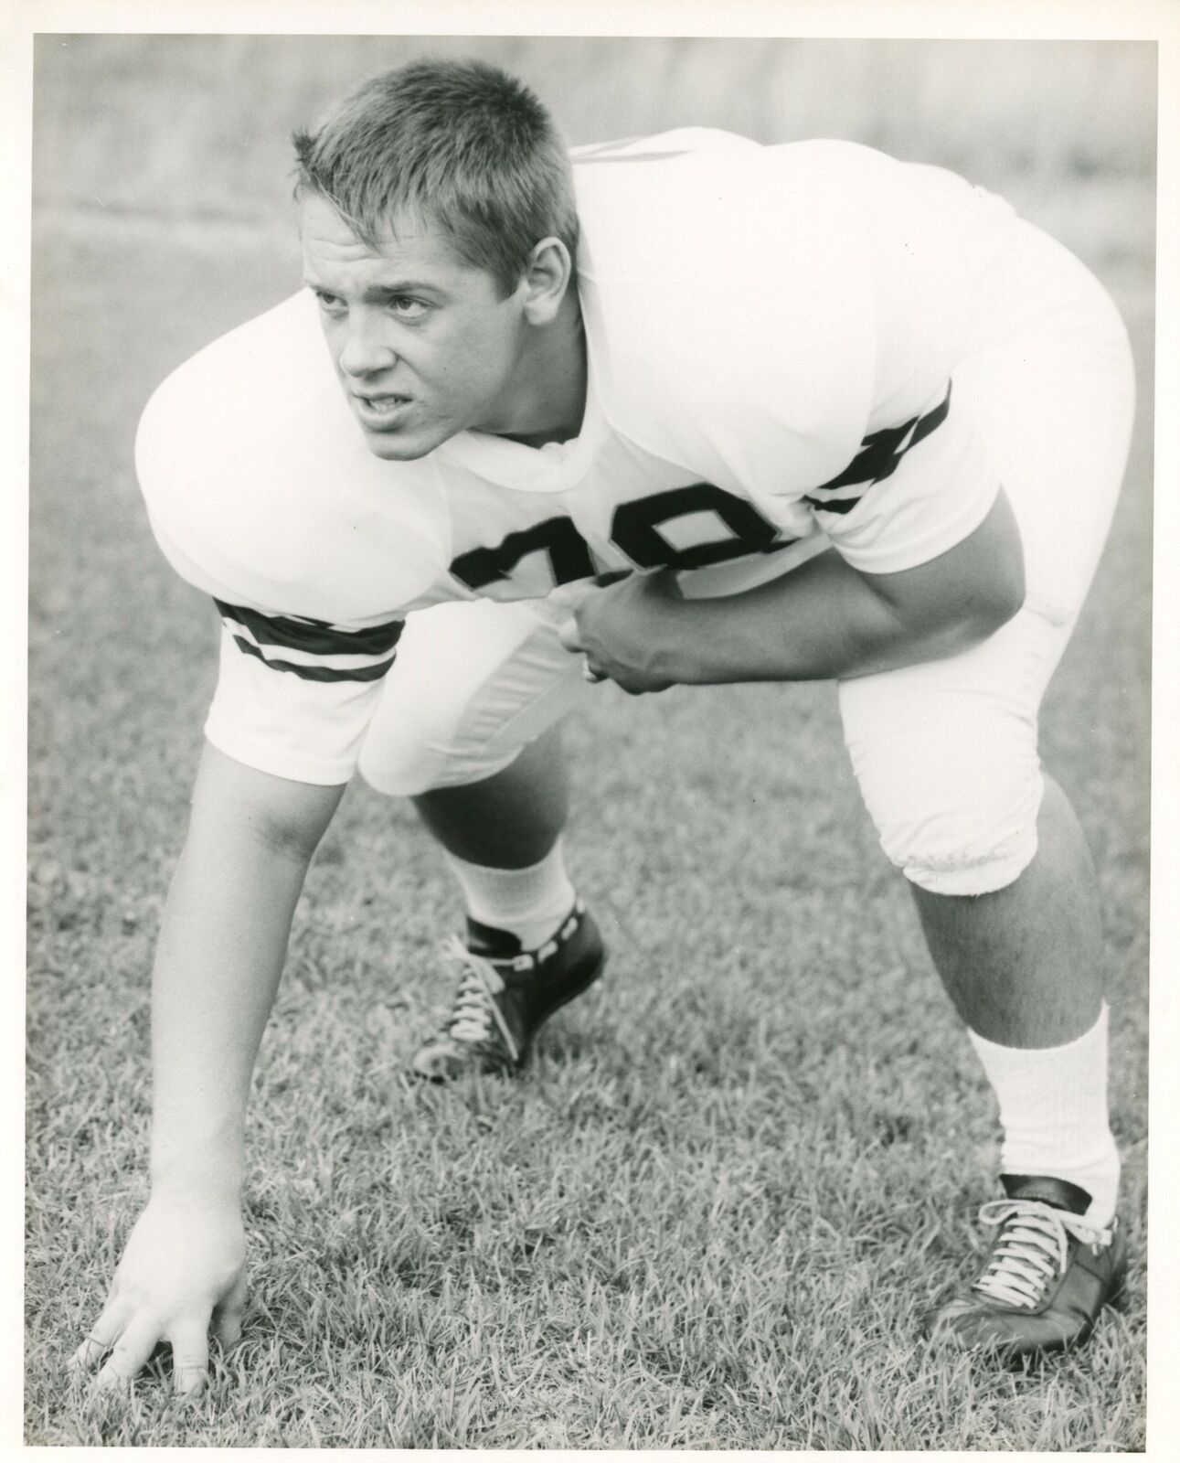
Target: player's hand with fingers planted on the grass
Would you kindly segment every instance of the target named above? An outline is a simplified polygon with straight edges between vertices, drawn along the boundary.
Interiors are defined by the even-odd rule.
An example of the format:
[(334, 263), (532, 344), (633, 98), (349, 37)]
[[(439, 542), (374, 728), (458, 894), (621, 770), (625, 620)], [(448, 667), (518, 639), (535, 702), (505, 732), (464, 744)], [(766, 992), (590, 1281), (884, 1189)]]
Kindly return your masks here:
[(237, 1198), (152, 1195), (73, 1365), (89, 1371), (105, 1356), (97, 1385), (118, 1387), (167, 1342), (175, 1390), (197, 1393), (209, 1375), (211, 1325), (222, 1346), (232, 1346), (244, 1304), (246, 1232)]

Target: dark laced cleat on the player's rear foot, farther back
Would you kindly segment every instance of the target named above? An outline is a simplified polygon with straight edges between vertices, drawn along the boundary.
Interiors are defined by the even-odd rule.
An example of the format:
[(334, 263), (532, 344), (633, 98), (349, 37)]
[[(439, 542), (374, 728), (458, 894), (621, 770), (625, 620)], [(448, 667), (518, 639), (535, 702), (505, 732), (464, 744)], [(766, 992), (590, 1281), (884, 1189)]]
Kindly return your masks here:
[(462, 966), (442, 1031), (415, 1053), (417, 1077), (453, 1081), (465, 1072), (516, 1072), (541, 1026), (602, 974), (607, 949), (578, 900), (561, 928), (538, 949), (502, 929), (469, 919), (466, 942), (443, 947)]

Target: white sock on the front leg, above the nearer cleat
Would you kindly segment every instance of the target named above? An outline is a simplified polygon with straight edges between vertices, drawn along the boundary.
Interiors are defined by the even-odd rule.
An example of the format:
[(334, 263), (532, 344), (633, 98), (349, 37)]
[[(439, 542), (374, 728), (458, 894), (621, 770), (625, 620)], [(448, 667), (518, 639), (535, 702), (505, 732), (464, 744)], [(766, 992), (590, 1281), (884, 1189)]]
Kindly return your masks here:
[(1000, 1103), (1003, 1173), (1037, 1173), (1081, 1185), (1097, 1229), (1114, 1216), (1119, 1150), (1107, 1116), (1107, 1005), (1064, 1046), (997, 1046), (968, 1031)]

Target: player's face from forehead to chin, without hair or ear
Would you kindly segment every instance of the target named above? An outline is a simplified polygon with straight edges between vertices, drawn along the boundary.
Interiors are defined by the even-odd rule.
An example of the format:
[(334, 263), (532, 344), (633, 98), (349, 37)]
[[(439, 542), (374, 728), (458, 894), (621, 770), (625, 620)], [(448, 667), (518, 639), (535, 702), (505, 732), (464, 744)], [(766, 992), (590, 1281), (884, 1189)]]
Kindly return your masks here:
[(304, 281), (370, 452), (405, 461), (456, 432), (506, 429), (526, 334), (521, 290), (500, 298), (434, 225), (408, 224), (374, 253), (314, 193), (300, 225)]

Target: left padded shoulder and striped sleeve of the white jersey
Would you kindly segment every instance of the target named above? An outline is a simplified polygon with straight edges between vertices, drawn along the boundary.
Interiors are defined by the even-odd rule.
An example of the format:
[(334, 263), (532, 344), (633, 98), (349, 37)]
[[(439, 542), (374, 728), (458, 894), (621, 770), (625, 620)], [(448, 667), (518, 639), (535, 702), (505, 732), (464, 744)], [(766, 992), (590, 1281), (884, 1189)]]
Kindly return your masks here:
[(209, 742), (276, 777), (347, 783), (405, 614), (446, 597), (449, 514), (427, 467), (364, 446), (314, 301), (174, 372), (136, 471), (164, 556), (221, 614)]

